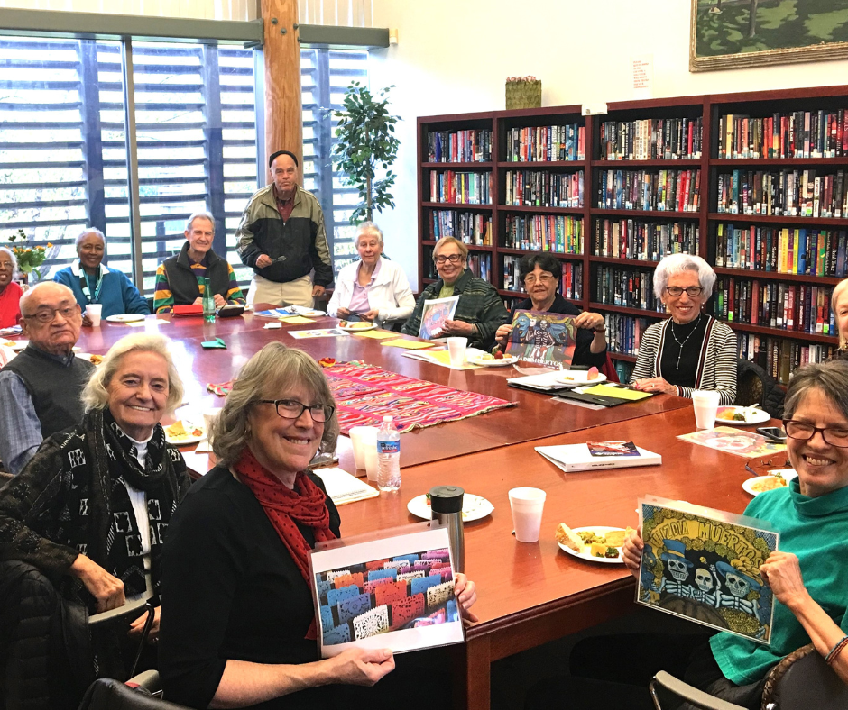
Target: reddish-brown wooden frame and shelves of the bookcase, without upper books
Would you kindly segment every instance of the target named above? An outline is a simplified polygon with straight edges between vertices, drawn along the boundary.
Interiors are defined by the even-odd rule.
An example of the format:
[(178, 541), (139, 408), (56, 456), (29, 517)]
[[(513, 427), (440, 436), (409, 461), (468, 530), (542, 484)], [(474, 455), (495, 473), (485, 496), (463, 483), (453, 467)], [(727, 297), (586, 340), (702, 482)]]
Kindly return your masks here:
[[(488, 259), (489, 280), (504, 299), (525, 297), (521, 291), (513, 290), (504, 280), (504, 260), (517, 259), (526, 253), (532, 253), (533, 249), (521, 249), (515, 246), (506, 246), (507, 228), (509, 220), (516, 216), (525, 218), (547, 218), (550, 215), (567, 215), (582, 221), (583, 250), (580, 253), (557, 253), (551, 251), (563, 262), (564, 269), (582, 269), (582, 292), (579, 297), (571, 298), (580, 307), (603, 313), (608, 322), (608, 335), (611, 337), (611, 345), (627, 342), (631, 346), (635, 339), (635, 333), (629, 319), (643, 319), (643, 324), (656, 322), (664, 317), (658, 310), (651, 310), (644, 303), (633, 303), (616, 305), (613, 302), (614, 288), (604, 289), (602, 284), (611, 285), (610, 278), (599, 284), (599, 275), (617, 271), (622, 275), (636, 272), (646, 275), (642, 278), (642, 288), (646, 288), (650, 281), (650, 275), (657, 261), (649, 254), (631, 255), (628, 258), (622, 254), (599, 253), (596, 247), (596, 233), (600, 230), (602, 234), (601, 251), (604, 251), (604, 221), (613, 222), (631, 220), (635, 223), (646, 224), (674, 224), (679, 225), (677, 229), (684, 232), (689, 238), (690, 248), (694, 251), (694, 233), (697, 232), (697, 253), (704, 257), (711, 265), (719, 278), (718, 285), (723, 290), (717, 291), (713, 299), (706, 305), (709, 313), (717, 314), (727, 322), (740, 336), (740, 353), (751, 356), (779, 379), (786, 380), (788, 371), (798, 362), (805, 359), (821, 359), (826, 356), (827, 351), (837, 345), (835, 334), (825, 332), (806, 332), (789, 329), (787, 325), (762, 323), (761, 318), (756, 317), (763, 310), (758, 304), (751, 304), (751, 298), (758, 298), (765, 293), (766, 288), (783, 289), (787, 293), (794, 294), (796, 303), (794, 313), (798, 317), (799, 310), (807, 306), (807, 313), (815, 305), (804, 303), (802, 296), (809, 297), (810, 289), (816, 287), (825, 299), (818, 303), (822, 307), (829, 303), (827, 300), (829, 292), (837, 284), (840, 278), (830, 276), (813, 276), (808, 273), (779, 273), (777, 271), (765, 270), (761, 264), (755, 264), (751, 258), (751, 264), (744, 266), (716, 266), (722, 263), (722, 255), (717, 254), (717, 247), (724, 247), (723, 238), (720, 239), (719, 232), (727, 231), (727, 225), (733, 224), (735, 230), (753, 230), (760, 228), (762, 233), (762, 256), (765, 256), (765, 232), (773, 229), (780, 232), (788, 230), (806, 230), (812, 234), (816, 230), (829, 230), (834, 235), (831, 246), (836, 249), (840, 231), (848, 231), (848, 214), (836, 217), (813, 217), (813, 216), (788, 216), (776, 214), (728, 214), (719, 212), (719, 186), (720, 177), (726, 182), (727, 176), (733, 175), (733, 170), (777, 175), (781, 170), (816, 170), (816, 177), (833, 175), (835, 184), (836, 172), (844, 170), (843, 190), (848, 191), (848, 154), (833, 158), (719, 158), (720, 148), (726, 142), (726, 136), (720, 135), (726, 129), (722, 117), (727, 114), (746, 116), (753, 119), (770, 118), (773, 114), (788, 115), (794, 112), (832, 112), (836, 114), (839, 110), (845, 110), (848, 114), (848, 86), (825, 86), (806, 89), (791, 89), (785, 91), (750, 92), (740, 94), (724, 94), (709, 96), (683, 96), (667, 99), (651, 99), (648, 101), (617, 102), (608, 105), (608, 113), (583, 117), (580, 114), (579, 105), (552, 106), (540, 109), (526, 109), (521, 111), (493, 111), (476, 114), (455, 114), (424, 116), (418, 119), (418, 210), (419, 210), (419, 285), (430, 283), (435, 278), (435, 271), (431, 271), (433, 239), (433, 214), (438, 210), (457, 210), (483, 214), (485, 218), (491, 218), (491, 243), (485, 245), (468, 244), (472, 256)], [(699, 123), (701, 131), (700, 155), (688, 159), (607, 159), (602, 145), (602, 126), (608, 122), (636, 122), (647, 119), (662, 120), (664, 124), (671, 123), (672, 119), (686, 119), (687, 124)], [(848, 122), (846, 117), (845, 122)], [(546, 160), (539, 162), (509, 161), (508, 160), (508, 137), (512, 129), (530, 128), (551, 125), (577, 124), (585, 131), (585, 159), (577, 160)], [(848, 128), (848, 126), (846, 126)], [(458, 132), (466, 130), (487, 130), (492, 132), (491, 159), (485, 162), (428, 162), (428, 137), (430, 132)], [(840, 131), (841, 135), (842, 131)], [(642, 133), (641, 135), (644, 135)], [(845, 145), (848, 145), (846, 139)], [(491, 201), (486, 205), (454, 205), (443, 202), (430, 201), (431, 174), (444, 170), (456, 170), (471, 173), (484, 173), (491, 179)], [(579, 207), (543, 207), (543, 206), (518, 206), (507, 205), (507, 176), (514, 170), (533, 170), (552, 176), (571, 175), (577, 171), (583, 172), (584, 201)], [(607, 176), (609, 170), (638, 171), (647, 174), (653, 180), (658, 180), (661, 171), (688, 170), (690, 182), (694, 171), (699, 171), (698, 203), (694, 210), (642, 210), (642, 209), (615, 209), (609, 205), (600, 203), (602, 179)], [(742, 175), (740, 173), (740, 175)], [(655, 177), (656, 176), (656, 177)], [(755, 179), (757, 179), (755, 177)], [(724, 183), (723, 183), (724, 184)], [(824, 189), (824, 188), (823, 188)], [(835, 189), (835, 188), (834, 188)], [(667, 229), (670, 229), (667, 227)], [(612, 226), (610, 226), (612, 230)], [(757, 232), (758, 236), (760, 232)], [(776, 232), (776, 233), (777, 233)], [(809, 237), (810, 239), (812, 237)], [(747, 239), (747, 238), (746, 238)], [(751, 236), (751, 243), (754, 237)], [(829, 244), (831, 242), (828, 242)], [(760, 246), (760, 241), (756, 241)], [(759, 251), (759, 250), (758, 250)], [(661, 256), (661, 255), (660, 255)], [(733, 278), (734, 293), (731, 296), (729, 282), (723, 279)], [(622, 276), (622, 283), (624, 277)], [(631, 287), (633, 279), (626, 279), (627, 287)], [(638, 281), (636, 282), (639, 283)], [(717, 287), (718, 287), (717, 285)], [(756, 285), (756, 287), (754, 286)], [(739, 294), (735, 289), (741, 288)], [(753, 289), (757, 290), (754, 291)], [(725, 294), (724, 289), (728, 289)], [(781, 293), (783, 293), (781, 291)], [(604, 297), (604, 295), (606, 297)], [(816, 292), (813, 293), (813, 297)], [(784, 296), (788, 299), (788, 296)], [(745, 298), (748, 299), (748, 310), (740, 312), (740, 307), (745, 308)], [(735, 306), (736, 313), (731, 316), (731, 308), (724, 313), (725, 301), (730, 301)], [(774, 304), (773, 304), (774, 305)], [(661, 305), (659, 306), (661, 308)], [(716, 313), (716, 308), (719, 313)], [(765, 314), (765, 313), (763, 313)], [(829, 315), (829, 314), (828, 314)], [(755, 319), (757, 323), (752, 321)], [(623, 319), (623, 320), (622, 320)], [(793, 323), (794, 325), (794, 323)], [(627, 330), (630, 328), (631, 330)], [(615, 330), (618, 329), (618, 330)], [(621, 335), (621, 338), (617, 336)], [(624, 337), (624, 336), (627, 337)], [(811, 347), (812, 346), (812, 347)], [(809, 349), (809, 350), (805, 350)], [(632, 354), (613, 350), (611, 354), (614, 359), (633, 362)]]

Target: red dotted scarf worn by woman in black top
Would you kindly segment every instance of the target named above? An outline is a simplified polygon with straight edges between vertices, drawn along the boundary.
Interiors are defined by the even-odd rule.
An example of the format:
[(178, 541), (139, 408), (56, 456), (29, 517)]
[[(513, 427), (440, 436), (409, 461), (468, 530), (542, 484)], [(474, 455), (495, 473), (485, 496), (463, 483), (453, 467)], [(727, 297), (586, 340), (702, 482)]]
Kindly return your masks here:
[[(235, 464), (235, 472), (242, 483), (250, 488), (253, 496), (263, 506), (265, 514), (280, 535), (280, 539), (300, 569), (300, 574), (312, 588), (309, 578), (309, 543), (300, 534), (295, 521), (308, 525), (315, 531), (315, 542), (336, 540), (330, 530), (330, 514), (327, 496), (303, 471), (294, 479), (294, 488), (284, 486), (280, 479), (256, 460), (253, 451), (244, 447), (242, 456)], [(309, 625), (306, 638), (316, 638), (315, 619)]]

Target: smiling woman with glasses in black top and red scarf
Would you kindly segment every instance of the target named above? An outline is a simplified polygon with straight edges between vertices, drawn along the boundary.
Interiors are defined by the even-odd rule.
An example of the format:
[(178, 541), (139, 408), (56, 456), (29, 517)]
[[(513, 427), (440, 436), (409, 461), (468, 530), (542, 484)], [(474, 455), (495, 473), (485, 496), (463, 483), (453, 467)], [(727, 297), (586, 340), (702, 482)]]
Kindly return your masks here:
[[(165, 543), (160, 672), (171, 702), (329, 707), (341, 685), (373, 686), (394, 669), (383, 649), (318, 659), (309, 551), (339, 536), (340, 519), (309, 462), (332, 447), (335, 412), (318, 363), (279, 342), (235, 379), (212, 427), (217, 466)], [(456, 594), (467, 609), (474, 584), (457, 575)]]

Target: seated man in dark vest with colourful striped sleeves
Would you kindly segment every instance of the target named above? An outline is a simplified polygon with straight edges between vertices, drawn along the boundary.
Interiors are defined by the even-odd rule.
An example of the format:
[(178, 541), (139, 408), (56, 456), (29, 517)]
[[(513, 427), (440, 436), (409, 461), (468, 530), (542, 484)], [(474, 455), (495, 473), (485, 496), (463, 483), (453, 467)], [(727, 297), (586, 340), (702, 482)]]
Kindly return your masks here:
[(235, 271), (226, 259), (212, 250), (215, 220), (207, 212), (196, 212), (186, 222), (186, 243), (180, 253), (165, 259), (156, 270), (153, 311), (170, 313), (175, 305), (203, 303), (200, 278), (208, 278), (215, 307), (244, 304)]

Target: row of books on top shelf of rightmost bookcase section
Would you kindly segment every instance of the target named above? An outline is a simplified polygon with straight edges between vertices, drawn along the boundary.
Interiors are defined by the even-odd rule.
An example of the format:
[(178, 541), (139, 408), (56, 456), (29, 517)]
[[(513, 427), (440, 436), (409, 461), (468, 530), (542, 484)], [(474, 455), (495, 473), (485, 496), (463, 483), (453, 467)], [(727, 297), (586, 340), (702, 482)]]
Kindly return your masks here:
[(719, 158), (838, 158), (848, 155), (848, 115), (842, 108), (762, 118), (725, 114), (718, 136)]

